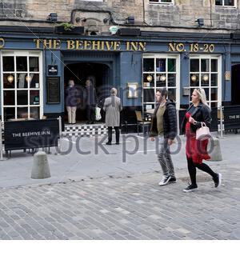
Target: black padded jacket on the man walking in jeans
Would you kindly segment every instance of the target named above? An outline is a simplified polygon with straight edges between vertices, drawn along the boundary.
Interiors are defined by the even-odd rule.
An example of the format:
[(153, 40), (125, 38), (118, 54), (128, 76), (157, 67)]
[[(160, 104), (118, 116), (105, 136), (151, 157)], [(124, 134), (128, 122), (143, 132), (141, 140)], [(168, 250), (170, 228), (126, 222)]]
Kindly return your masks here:
[[(154, 110), (150, 128), (150, 137), (158, 136), (157, 112), (158, 104)], [(164, 138), (174, 139), (177, 136), (177, 114), (174, 102), (166, 101), (166, 110), (163, 114), (163, 135)]]

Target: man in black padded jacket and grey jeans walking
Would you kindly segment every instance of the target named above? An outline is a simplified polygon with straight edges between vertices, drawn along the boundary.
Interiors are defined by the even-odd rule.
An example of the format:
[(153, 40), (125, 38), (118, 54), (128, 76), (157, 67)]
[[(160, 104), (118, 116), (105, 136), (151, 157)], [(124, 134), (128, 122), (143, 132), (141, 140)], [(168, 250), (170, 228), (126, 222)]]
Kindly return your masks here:
[(150, 127), (150, 139), (158, 138), (158, 162), (162, 167), (162, 180), (159, 186), (176, 182), (174, 164), (170, 155), (170, 146), (177, 136), (177, 114), (174, 102), (167, 99), (166, 88), (156, 91), (157, 106)]

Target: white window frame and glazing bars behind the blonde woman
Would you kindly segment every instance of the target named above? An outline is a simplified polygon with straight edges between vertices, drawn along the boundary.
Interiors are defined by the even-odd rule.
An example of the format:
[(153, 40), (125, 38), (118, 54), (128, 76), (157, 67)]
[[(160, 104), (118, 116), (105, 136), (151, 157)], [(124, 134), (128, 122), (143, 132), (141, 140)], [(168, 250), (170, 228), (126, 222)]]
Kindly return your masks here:
[[(209, 89), (209, 96), (208, 96), (208, 100), (207, 100), (207, 103), (209, 104), (209, 106), (211, 107), (211, 103), (212, 102), (217, 102), (217, 107), (219, 107), (219, 106), (221, 106), (222, 105), (222, 56), (221, 55), (219, 55), (219, 54), (190, 54), (190, 58), (189, 58), (189, 60), (191, 60), (191, 59), (198, 59), (199, 60), (199, 70), (198, 70), (198, 72), (196, 71), (189, 71), (189, 88), (190, 88), (190, 90), (191, 89), (194, 89), (194, 88), (203, 88), (203, 89), (205, 89), (205, 88), (208, 88)], [(207, 72), (205, 72), (205, 71), (202, 71), (201, 70), (201, 60), (202, 59), (209, 59), (209, 60), (211, 60), (211, 59), (217, 59), (218, 60), (218, 71), (211, 71), (211, 64), (210, 64), (210, 70), (209, 71), (207, 71)], [(190, 62), (189, 62), (189, 70), (190, 70)], [(190, 86), (190, 84), (191, 84), (191, 74), (196, 74), (196, 73), (198, 73), (199, 74), (199, 85), (198, 86)], [(201, 77), (201, 74), (206, 74), (206, 73), (208, 73), (208, 74), (218, 74), (218, 76), (217, 76), (217, 78), (218, 78), (218, 86), (211, 86), (211, 84), (209, 84), (209, 86), (207, 87), (207, 86), (202, 86), (201, 85), (201, 82), (200, 82), (200, 77)], [(209, 77), (209, 79), (210, 79), (210, 77)], [(214, 101), (212, 101), (211, 100), (211, 94), (210, 94), (210, 91), (211, 91), (211, 89), (214, 89), (214, 88), (217, 88), (218, 89), (218, 99), (217, 99), (217, 101), (216, 100), (214, 100)], [(191, 93), (190, 93), (190, 102), (191, 102)]]

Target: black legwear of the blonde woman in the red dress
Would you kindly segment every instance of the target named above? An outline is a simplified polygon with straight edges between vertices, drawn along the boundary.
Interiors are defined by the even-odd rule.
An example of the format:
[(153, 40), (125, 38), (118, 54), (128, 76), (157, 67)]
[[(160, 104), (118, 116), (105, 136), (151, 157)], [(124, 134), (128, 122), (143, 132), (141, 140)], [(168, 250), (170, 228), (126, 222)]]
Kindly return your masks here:
[(193, 162), (192, 158), (187, 158), (187, 167), (188, 167), (188, 172), (190, 174), (190, 179), (191, 179), (191, 183), (192, 185), (197, 185), (197, 181), (196, 181), (196, 174), (197, 174), (197, 170), (196, 167), (200, 170), (205, 171), (207, 174), (210, 174), (213, 178), (217, 178), (218, 174), (214, 173), (213, 170), (211, 170), (210, 166), (206, 165), (206, 163), (195, 163)]

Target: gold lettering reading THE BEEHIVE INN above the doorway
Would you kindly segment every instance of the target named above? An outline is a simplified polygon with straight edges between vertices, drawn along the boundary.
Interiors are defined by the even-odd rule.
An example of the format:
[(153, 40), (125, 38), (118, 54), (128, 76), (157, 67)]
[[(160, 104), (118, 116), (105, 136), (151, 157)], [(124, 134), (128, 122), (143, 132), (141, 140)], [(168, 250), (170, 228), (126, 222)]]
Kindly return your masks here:
[[(90, 41), (90, 40), (72, 40), (61, 41), (59, 39), (34, 39), (37, 49), (64, 49), (67, 50), (107, 50), (119, 51), (126, 49), (127, 51), (145, 51), (146, 42), (120, 42), (120, 41)], [(123, 47), (125, 46), (125, 47)], [(178, 48), (181, 46), (178, 46)], [(179, 48), (179, 49), (180, 49)]]

